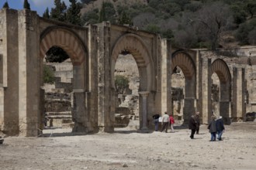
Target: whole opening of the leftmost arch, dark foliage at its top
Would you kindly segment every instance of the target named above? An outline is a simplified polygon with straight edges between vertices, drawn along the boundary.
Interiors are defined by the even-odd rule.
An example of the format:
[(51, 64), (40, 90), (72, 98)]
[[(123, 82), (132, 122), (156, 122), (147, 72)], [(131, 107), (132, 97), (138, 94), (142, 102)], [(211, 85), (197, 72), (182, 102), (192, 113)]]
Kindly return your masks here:
[(73, 64), (59, 46), (52, 46), (43, 58), (43, 90), (43, 134), (53, 129), (71, 132), (74, 127)]

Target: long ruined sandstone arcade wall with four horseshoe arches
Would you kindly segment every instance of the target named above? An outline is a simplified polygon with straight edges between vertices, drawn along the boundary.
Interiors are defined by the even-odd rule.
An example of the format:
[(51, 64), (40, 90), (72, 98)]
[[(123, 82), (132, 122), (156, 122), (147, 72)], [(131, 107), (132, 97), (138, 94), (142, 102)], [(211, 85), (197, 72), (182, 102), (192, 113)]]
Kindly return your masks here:
[[(141, 130), (151, 128), (152, 114), (174, 109), (182, 110), (178, 114), (184, 124), (195, 111), (207, 124), (213, 111), (230, 123), (244, 120), (247, 112), (255, 110), (255, 47), (214, 53), (180, 49), (168, 39), (137, 28), (109, 22), (73, 26), (40, 18), (26, 9), (1, 9), (0, 30), (0, 131), (4, 134), (40, 134), (46, 93), (43, 58), (52, 46), (64, 49), (73, 65), (74, 132), (114, 131), (115, 66), (119, 55), (127, 51), (140, 77)], [(182, 88), (172, 86), (176, 70), (185, 77)], [(216, 90), (213, 74), (220, 82)], [(213, 95), (212, 91), (217, 92)], [(172, 100), (175, 96), (183, 97), (182, 108), (178, 100)]]

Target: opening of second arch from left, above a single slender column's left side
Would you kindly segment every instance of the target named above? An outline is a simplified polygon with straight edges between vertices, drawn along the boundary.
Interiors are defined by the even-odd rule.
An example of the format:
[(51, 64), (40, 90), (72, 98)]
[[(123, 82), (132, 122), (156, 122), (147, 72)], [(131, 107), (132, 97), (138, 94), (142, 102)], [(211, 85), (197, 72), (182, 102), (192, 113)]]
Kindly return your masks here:
[(115, 131), (138, 129), (140, 73), (133, 55), (123, 50), (115, 65)]

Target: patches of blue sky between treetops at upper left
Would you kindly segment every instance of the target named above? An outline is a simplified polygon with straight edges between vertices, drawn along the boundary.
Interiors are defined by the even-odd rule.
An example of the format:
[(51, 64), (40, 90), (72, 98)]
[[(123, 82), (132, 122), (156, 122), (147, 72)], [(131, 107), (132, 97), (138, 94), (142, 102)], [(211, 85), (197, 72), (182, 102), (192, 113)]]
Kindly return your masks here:
[[(9, 8), (14, 9), (22, 9), (23, 8), (23, 2), (24, 0), (0, 0), (0, 8), (5, 4), (5, 2), (8, 2)], [(38, 15), (42, 16), (43, 12), (45, 12), (46, 8), (49, 8), (49, 11), (51, 8), (54, 7), (54, 0), (28, 0), (30, 4), (30, 9), (32, 11), (36, 11)], [(62, 0), (61, 2), (65, 2), (67, 7), (70, 5), (69, 0)]]

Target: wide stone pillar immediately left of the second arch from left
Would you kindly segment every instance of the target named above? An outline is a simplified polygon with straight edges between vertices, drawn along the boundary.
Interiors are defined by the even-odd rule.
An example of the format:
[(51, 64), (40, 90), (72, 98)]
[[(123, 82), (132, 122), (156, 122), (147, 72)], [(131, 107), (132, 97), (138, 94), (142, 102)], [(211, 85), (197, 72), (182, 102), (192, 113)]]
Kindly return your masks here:
[(98, 25), (98, 127), (99, 131), (114, 131), (114, 121), (111, 102), (115, 96), (111, 95), (110, 71), (110, 23), (102, 22)]

